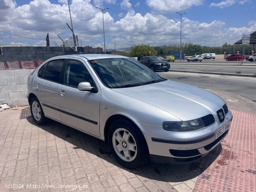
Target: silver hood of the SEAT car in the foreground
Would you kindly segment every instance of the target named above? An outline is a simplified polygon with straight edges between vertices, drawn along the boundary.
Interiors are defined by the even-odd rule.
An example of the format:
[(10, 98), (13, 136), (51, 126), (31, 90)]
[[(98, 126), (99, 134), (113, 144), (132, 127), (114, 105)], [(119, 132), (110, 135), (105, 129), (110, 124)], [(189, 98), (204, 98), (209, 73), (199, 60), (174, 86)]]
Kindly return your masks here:
[(223, 99), (213, 93), (171, 80), (112, 90), (157, 106), (181, 120), (216, 115), (216, 111), (225, 104)]

